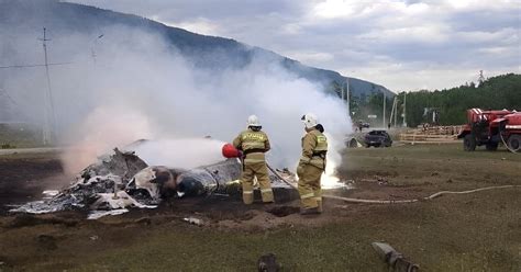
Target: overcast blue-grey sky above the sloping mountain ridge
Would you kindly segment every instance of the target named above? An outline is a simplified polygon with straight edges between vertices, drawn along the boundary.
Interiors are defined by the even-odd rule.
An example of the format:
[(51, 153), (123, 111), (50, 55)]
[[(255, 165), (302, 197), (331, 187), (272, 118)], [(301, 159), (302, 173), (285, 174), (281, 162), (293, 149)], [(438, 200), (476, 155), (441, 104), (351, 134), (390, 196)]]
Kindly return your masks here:
[(521, 73), (521, 0), (70, 0), (234, 38), (390, 90)]

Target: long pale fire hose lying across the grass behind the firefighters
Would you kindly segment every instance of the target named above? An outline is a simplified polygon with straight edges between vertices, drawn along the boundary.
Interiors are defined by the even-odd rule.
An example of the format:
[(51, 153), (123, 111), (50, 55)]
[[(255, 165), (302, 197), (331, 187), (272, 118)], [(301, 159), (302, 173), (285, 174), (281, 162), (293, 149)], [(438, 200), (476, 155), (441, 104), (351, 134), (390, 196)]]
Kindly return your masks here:
[[(280, 180), (282, 180), (285, 183), (290, 185), (293, 189), (297, 189), (295, 184), (291, 182), (287, 181), (285, 178), (282, 178), (280, 174), (277, 173), (269, 165), (268, 169)], [(475, 193), (475, 192), (480, 192), (480, 191), (488, 191), (488, 190), (496, 190), (496, 189), (508, 189), (508, 188), (521, 188), (521, 185), (501, 185), (501, 186), (487, 186), (487, 188), (478, 188), (475, 190), (468, 190), (468, 191), (461, 191), (461, 192), (454, 192), (454, 191), (441, 191), (434, 194), (431, 194), (426, 197), (423, 199), (417, 199), (417, 200), (397, 200), (397, 201), (379, 201), (379, 200), (363, 200), (363, 199), (352, 199), (352, 197), (343, 197), (343, 196), (335, 196), (335, 195), (322, 195), (323, 199), (330, 199), (330, 200), (337, 200), (337, 201), (345, 201), (345, 202), (351, 202), (351, 203), (367, 203), (367, 204), (400, 204), (400, 203), (414, 203), (419, 201), (430, 201), (434, 200), (439, 196), (442, 196), (444, 194), (469, 194), (469, 193)]]

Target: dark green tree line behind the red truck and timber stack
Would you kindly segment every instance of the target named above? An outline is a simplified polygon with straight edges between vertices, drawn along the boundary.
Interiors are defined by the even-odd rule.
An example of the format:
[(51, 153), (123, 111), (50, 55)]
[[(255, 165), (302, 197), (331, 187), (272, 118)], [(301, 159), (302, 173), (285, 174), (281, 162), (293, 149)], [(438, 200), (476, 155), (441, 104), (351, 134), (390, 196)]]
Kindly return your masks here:
[[(401, 114), (404, 99), (407, 99), (406, 121), (409, 127), (432, 123), (433, 112), (437, 113), (439, 125), (461, 125), (466, 123), (466, 110), (473, 107), (521, 111), (521, 75), (501, 75), (481, 82), (465, 83), (451, 89), (407, 92), (407, 98), (404, 98), (404, 92), (400, 92), (396, 97), (398, 99), (398, 125), (403, 122)], [(384, 94), (381, 92), (350, 95), (350, 99), (354, 122), (363, 120), (370, 122), (374, 126), (383, 125)], [(393, 99), (386, 98), (386, 123), (389, 122)], [(377, 115), (377, 118), (368, 120), (368, 115)], [(393, 124), (393, 122), (391, 123)]]

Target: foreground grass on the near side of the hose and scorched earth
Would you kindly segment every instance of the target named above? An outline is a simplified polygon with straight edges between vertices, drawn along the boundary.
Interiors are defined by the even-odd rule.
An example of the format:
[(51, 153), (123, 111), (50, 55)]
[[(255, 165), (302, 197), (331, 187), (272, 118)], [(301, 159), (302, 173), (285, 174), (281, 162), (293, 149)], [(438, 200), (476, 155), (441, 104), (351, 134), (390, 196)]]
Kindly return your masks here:
[[(170, 223), (144, 227), (140, 236), (128, 237), (130, 245), (69, 261), (77, 271), (252, 271), (259, 256), (273, 252), (284, 271), (387, 271), (370, 248), (370, 242), (385, 240), (422, 271), (519, 271), (519, 194), (374, 206), (344, 223), (315, 228), (236, 231)], [(132, 228), (137, 227), (128, 230), (135, 235)]]

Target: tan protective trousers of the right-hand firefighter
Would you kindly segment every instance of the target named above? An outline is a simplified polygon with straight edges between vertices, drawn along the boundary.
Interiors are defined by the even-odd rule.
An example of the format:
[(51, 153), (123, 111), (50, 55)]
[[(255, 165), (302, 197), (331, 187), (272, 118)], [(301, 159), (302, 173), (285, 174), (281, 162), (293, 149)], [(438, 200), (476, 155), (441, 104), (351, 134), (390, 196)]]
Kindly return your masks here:
[(299, 175), (300, 205), (302, 208), (314, 208), (322, 212), (322, 190), (320, 177), (324, 170), (309, 163), (300, 163), (297, 168)]

